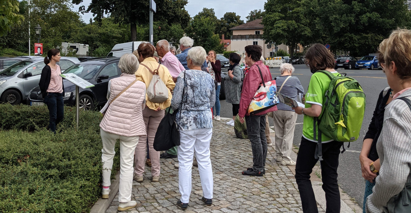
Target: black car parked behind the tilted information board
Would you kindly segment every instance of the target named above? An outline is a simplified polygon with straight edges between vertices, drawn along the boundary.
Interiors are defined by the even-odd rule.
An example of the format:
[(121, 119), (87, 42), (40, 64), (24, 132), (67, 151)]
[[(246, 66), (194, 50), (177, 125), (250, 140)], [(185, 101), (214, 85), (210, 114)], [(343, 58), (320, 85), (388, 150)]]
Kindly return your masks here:
[[(94, 58), (84, 60), (80, 63), (69, 67), (63, 72), (74, 73), (79, 77), (85, 79), (91, 84), (95, 85), (90, 88), (79, 88), (80, 95), (80, 108), (85, 110), (94, 109), (96, 106), (102, 106), (107, 102), (107, 89), (109, 80), (119, 77), (121, 70), (118, 67), (119, 57), (110, 58)], [(76, 85), (67, 80), (63, 80), (64, 84), (64, 104), (68, 106), (76, 105)], [(27, 103), (30, 105), (32, 102), (43, 102), (43, 95), (39, 86), (30, 91)]]

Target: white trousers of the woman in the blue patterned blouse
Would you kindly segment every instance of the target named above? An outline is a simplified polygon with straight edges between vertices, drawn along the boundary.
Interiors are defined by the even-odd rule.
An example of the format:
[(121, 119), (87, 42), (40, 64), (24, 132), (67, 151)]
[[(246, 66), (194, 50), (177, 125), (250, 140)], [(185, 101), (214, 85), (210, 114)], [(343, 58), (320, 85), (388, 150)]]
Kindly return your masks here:
[(180, 131), (181, 145), (177, 147), (178, 156), (178, 187), (181, 202), (188, 203), (191, 194), (191, 168), (194, 153), (199, 165), (203, 196), (212, 199), (212, 168), (210, 160), (210, 140), (212, 128)]

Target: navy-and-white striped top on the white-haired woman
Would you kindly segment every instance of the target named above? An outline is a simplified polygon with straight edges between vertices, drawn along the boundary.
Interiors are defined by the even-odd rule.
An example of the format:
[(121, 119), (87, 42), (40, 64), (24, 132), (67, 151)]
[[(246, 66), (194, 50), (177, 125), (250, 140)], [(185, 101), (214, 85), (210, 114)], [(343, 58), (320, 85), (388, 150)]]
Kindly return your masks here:
[[(302, 88), (300, 80), (298, 77), (291, 76), (284, 84), (282, 87), (281, 91), (279, 89), (281, 88), (281, 85), (284, 83), (284, 81), (289, 77), (289, 75), (284, 75), (284, 76), (279, 76), (275, 78), (275, 84), (277, 85), (277, 91), (281, 93), (282, 95), (285, 95), (287, 97), (291, 97), (294, 100), (298, 100), (297, 96), (298, 93), (304, 93), (304, 88)], [(289, 110), (289, 111), (294, 111), (291, 109), (291, 106), (284, 104), (283, 102), (279, 102), (277, 104), (277, 109), (278, 110)]]

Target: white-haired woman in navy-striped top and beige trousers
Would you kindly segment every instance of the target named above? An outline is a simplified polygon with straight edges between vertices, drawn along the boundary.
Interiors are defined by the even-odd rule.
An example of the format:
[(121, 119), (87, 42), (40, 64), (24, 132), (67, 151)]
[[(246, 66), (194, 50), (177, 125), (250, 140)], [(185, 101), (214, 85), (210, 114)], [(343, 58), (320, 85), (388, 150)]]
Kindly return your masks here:
[[(292, 76), (295, 68), (290, 63), (280, 66), (281, 74), (275, 79), (277, 92), (297, 101), (298, 93), (304, 93), (298, 77)], [(291, 148), (294, 140), (294, 128), (296, 126), (297, 114), (291, 106), (279, 102), (277, 111), (273, 112), (275, 131), (276, 161), (282, 165), (296, 165), (291, 159)]]

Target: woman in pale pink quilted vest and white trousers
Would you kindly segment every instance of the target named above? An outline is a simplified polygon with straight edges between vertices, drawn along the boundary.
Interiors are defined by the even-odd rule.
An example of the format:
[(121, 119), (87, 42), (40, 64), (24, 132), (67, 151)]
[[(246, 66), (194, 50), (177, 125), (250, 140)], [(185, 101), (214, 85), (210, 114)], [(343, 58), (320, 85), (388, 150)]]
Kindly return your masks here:
[[(113, 166), (114, 145), (120, 140), (120, 186), (118, 211), (137, 205), (131, 201), (133, 184), (134, 150), (141, 136), (146, 136), (143, 120), (145, 107), (145, 84), (136, 81), (134, 72), (139, 68), (137, 57), (127, 53), (120, 58), (121, 75), (111, 79), (109, 108), (100, 123), (103, 141), (103, 190), (102, 198), (109, 198), (110, 176)], [(129, 86), (129, 88), (127, 88)], [(117, 193), (117, 192), (114, 192)]]

